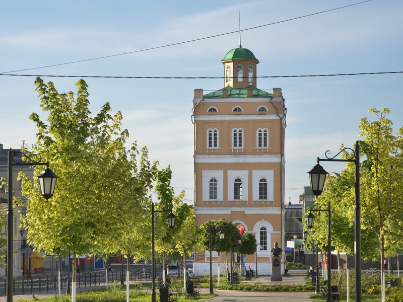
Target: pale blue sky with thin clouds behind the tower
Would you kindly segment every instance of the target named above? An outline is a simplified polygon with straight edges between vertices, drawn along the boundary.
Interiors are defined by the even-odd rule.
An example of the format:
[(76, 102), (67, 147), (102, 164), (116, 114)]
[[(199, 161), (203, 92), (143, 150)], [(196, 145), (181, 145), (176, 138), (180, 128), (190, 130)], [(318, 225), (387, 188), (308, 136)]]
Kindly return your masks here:
[[(259, 60), (258, 77), (403, 71), (403, 2), (357, 3), (360, 1), (2, 2), (0, 143), (4, 148), (19, 148), (24, 141), (29, 147), (36, 142), (36, 127), (28, 117), (36, 112), (46, 118), (39, 106), (35, 77), (9, 74), (222, 77), (221, 60), (240, 42)], [(344, 6), (349, 7), (333, 10)], [(236, 32), (239, 24), (241, 38)], [(257, 28), (245, 30), (253, 27)], [(226, 34), (230, 32), (235, 33)], [(207, 38), (211, 36), (216, 37)], [(201, 40), (181, 43), (196, 39)], [(181, 44), (160, 47), (176, 43)], [(155, 47), (160, 48), (139, 51)], [(122, 53), (127, 54), (117, 55)], [(95, 59), (99, 57), (106, 58)], [(65, 64), (76, 61), (82, 62)], [(37, 68), (43, 66), (50, 67)], [(22, 70), (29, 68), (35, 69)], [(76, 92), (79, 80), (42, 79), (53, 82), (59, 93)], [(192, 203), (194, 89), (215, 91), (224, 87), (224, 80), (85, 81), (92, 113), (106, 102), (113, 112), (121, 111), (123, 128), (130, 133), (128, 144), (137, 141), (140, 147), (147, 146), (150, 160), (158, 160), (160, 168), (170, 165), (175, 192), (185, 190), (185, 201)], [(304, 186), (309, 186), (306, 172), (317, 157), (323, 158), (326, 150), (336, 155), (341, 144), (354, 148), (360, 139), (360, 119), (376, 119), (368, 113), (370, 108), (390, 109), (388, 118), (395, 132), (403, 126), (403, 73), (258, 78), (257, 88), (269, 92), (281, 88), (285, 98), (286, 203), (299, 202)], [(322, 166), (328, 172), (344, 169), (343, 163)]]

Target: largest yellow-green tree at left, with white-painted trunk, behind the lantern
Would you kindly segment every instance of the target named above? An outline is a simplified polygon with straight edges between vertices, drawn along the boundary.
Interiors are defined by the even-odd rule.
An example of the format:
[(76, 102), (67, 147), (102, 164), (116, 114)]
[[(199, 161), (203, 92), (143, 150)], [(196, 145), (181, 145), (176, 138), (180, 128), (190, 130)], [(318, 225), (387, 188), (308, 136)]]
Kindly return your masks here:
[(119, 234), (119, 205), (126, 197), (119, 189), (131, 176), (124, 147), (128, 132), (120, 128), (121, 113), (110, 114), (109, 103), (91, 117), (84, 80), (76, 84), (76, 98), (73, 92), (59, 94), (52, 82), (45, 84), (40, 78), (35, 85), (48, 123), (37, 113), (30, 116), (38, 128), (33, 152), (49, 161), (58, 180), (45, 203), (38, 184), (24, 177), (22, 193), (29, 202), (23, 224), (39, 251), (73, 253), (75, 301), (76, 256), (89, 254), (94, 244), (112, 245)]

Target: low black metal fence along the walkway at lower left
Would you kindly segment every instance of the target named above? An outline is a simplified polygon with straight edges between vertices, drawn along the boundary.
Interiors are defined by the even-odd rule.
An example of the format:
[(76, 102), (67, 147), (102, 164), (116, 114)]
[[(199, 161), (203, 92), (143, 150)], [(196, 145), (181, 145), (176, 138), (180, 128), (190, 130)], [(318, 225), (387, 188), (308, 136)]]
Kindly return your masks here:
[[(156, 269), (156, 275), (162, 274), (162, 270)], [(68, 274), (61, 274), (61, 290), (68, 286)], [(112, 270), (108, 272), (108, 283), (113, 281), (121, 282), (122, 272)], [(150, 270), (130, 270), (129, 281), (150, 281), (152, 274)], [(14, 277), (14, 295), (16, 294), (32, 294), (47, 291), (58, 291), (58, 275), (55, 274), (32, 274), (30, 276)], [(73, 280), (70, 273), (70, 281)], [(123, 273), (123, 281), (126, 281), (126, 271)], [(77, 274), (76, 286), (86, 287), (94, 285), (106, 285), (105, 270), (82, 272)], [(7, 278), (0, 277), (0, 296), (7, 295)]]

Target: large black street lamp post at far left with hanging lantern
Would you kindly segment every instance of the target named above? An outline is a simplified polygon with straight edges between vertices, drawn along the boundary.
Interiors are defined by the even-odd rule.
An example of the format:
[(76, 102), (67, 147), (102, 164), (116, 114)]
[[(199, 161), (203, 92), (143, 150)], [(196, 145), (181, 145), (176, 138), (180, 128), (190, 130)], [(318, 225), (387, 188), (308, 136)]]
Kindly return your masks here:
[[(20, 156), (21, 155), (21, 156)], [(23, 162), (25, 157), (29, 163)], [(36, 157), (37, 160), (35, 160)], [(8, 208), (7, 208), (7, 302), (13, 302), (13, 238), (14, 238), (14, 211), (13, 211), (13, 166), (43, 166), (47, 168), (38, 175), (41, 194), (46, 201), (52, 197), (56, 185), (56, 174), (49, 169), (49, 162), (40, 163), (39, 155), (28, 156), (22, 152), (8, 152)]]

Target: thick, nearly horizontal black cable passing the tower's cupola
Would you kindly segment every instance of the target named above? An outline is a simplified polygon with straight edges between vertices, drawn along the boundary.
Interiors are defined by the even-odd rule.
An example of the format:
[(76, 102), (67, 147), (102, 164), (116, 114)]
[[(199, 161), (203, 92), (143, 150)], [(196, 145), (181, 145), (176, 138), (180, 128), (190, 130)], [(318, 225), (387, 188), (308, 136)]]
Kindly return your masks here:
[[(370, 0), (372, 1), (372, 0)], [(369, 74), (392, 74), (403, 73), (403, 71), (379, 71), (379, 72), (358, 72), (358, 73), (331, 73), (331, 74), (297, 74), (297, 75), (263, 75), (260, 79), (267, 78), (313, 78), (313, 77), (343, 77), (347, 75), (369, 75)], [(5, 74), (9, 77), (40, 77), (40, 78), (98, 78), (98, 79), (162, 79), (162, 80), (192, 80), (192, 79), (224, 79), (225, 77), (131, 77), (125, 75), (60, 75), (60, 74)]]

